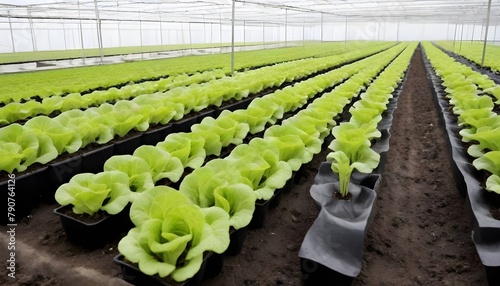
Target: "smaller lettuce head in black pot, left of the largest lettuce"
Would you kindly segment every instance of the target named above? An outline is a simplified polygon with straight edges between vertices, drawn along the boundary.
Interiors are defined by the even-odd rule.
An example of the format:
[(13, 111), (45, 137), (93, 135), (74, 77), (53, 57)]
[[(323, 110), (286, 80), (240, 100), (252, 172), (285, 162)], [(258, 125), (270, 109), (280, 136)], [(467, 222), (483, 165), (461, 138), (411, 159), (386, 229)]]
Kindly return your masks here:
[(129, 202), (129, 178), (120, 171), (99, 174), (82, 173), (61, 185), (55, 194), (62, 205), (73, 205), (75, 214), (93, 215), (99, 210), (114, 215)]

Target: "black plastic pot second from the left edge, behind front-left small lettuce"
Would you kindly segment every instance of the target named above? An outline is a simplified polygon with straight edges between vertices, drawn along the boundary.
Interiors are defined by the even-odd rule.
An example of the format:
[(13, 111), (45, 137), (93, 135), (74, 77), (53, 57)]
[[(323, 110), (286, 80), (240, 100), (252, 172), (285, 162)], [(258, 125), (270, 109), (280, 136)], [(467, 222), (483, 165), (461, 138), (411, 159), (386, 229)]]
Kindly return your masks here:
[(60, 185), (69, 182), (76, 174), (82, 172), (82, 156), (74, 156), (66, 160), (52, 163), (47, 169), (46, 187), (42, 190), (42, 201), (55, 204), (54, 194)]

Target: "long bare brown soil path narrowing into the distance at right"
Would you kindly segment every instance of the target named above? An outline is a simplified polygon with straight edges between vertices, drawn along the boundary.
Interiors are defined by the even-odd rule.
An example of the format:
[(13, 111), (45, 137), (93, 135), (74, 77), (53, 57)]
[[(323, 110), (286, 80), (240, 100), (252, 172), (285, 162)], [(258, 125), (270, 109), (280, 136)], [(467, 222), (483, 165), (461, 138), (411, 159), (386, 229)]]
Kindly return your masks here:
[(418, 49), (354, 285), (487, 285)]

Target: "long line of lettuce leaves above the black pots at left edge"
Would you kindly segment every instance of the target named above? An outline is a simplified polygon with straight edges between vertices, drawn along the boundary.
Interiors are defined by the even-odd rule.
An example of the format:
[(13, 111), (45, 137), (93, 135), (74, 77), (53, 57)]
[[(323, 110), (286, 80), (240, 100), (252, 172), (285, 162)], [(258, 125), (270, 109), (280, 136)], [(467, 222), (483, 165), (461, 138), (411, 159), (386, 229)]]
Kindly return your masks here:
[(72, 109), (56, 117), (36, 116), (24, 125), (0, 128), (0, 171), (22, 172), (33, 163), (46, 164), (64, 152), (74, 153), (90, 143), (105, 144), (131, 130), (145, 131), (151, 124), (165, 125), (192, 111), (220, 107), (229, 99), (240, 100), (270, 87), (279, 87), (354, 61), (387, 48), (354, 50), (338, 56), (310, 58), (267, 66), (207, 83), (142, 94), (132, 100), (102, 104), (86, 110)]

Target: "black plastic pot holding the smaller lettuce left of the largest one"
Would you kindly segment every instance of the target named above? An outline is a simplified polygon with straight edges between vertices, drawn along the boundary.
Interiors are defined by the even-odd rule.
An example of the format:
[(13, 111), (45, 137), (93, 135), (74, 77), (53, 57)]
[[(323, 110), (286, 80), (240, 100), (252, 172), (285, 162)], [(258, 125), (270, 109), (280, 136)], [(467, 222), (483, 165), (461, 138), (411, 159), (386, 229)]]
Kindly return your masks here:
[(86, 223), (68, 214), (72, 206), (61, 206), (54, 209), (68, 239), (88, 249), (103, 247), (114, 239), (124, 236), (133, 227), (130, 221), (130, 204), (116, 215), (107, 215), (95, 223)]

